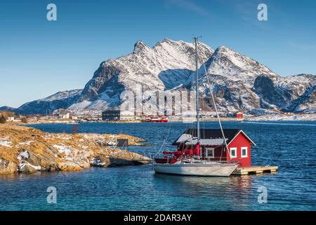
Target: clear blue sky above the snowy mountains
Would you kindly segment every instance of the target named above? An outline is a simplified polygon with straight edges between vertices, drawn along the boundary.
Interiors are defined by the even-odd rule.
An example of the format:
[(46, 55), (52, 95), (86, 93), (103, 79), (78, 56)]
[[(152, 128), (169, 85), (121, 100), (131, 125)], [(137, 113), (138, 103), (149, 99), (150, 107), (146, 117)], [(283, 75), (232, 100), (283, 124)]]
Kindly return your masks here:
[[(57, 6), (57, 21), (46, 6)], [(268, 21), (257, 6), (268, 5)], [(81, 89), (103, 60), (169, 37), (201, 35), (279, 75), (316, 75), (316, 1), (29, 0), (0, 2), (0, 106)]]

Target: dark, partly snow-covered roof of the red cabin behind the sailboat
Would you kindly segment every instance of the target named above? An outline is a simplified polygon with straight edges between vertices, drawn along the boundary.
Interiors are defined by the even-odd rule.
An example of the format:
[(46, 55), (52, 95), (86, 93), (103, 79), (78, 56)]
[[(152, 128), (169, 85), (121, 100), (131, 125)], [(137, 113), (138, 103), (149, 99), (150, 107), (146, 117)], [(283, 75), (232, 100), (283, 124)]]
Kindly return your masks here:
[[(246, 139), (248, 139), (252, 145), (256, 146), (254, 141), (251, 141), (248, 136), (241, 129), (223, 129), (225, 134), (225, 139), (228, 145), (235, 139), (235, 137), (242, 132)], [(225, 145), (224, 139), (220, 129), (200, 129), (200, 141), (202, 146), (221, 146)], [(197, 143), (197, 129), (186, 129), (183, 134), (181, 134), (176, 141), (172, 143), (173, 146), (178, 146), (180, 144), (185, 145), (195, 145)]]

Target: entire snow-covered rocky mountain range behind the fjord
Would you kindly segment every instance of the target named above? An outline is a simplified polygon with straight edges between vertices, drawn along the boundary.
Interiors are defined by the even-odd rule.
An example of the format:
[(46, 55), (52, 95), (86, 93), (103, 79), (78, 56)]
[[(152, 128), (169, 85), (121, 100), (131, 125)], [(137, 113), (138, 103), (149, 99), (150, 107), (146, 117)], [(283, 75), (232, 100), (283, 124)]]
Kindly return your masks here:
[[(211, 110), (210, 85), (213, 83), (216, 102), (221, 111), (268, 113), (316, 112), (316, 76), (281, 77), (265, 65), (220, 46), (216, 51), (199, 44), (199, 89), (204, 99), (202, 108)], [(94, 72), (83, 90), (62, 91), (41, 100), (25, 103), (23, 113), (46, 113), (46, 110), (105, 110), (121, 104), (124, 90), (162, 91), (194, 89), (195, 46), (185, 41), (164, 39), (152, 48), (137, 41), (133, 53), (106, 60)]]

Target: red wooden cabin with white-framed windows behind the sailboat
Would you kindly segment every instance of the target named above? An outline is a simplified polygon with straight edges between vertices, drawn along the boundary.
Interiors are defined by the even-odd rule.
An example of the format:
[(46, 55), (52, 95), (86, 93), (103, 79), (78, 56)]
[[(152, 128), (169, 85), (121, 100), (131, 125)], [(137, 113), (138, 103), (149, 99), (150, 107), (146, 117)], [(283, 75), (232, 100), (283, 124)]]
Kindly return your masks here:
[[(224, 129), (226, 143), (230, 154), (225, 148), (225, 142), (220, 129), (200, 129), (200, 150), (202, 159), (220, 162), (238, 162), (239, 167), (251, 166), (251, 146), (256, 146), (241, 129)], [(197, 145), (197, 129), (187, 129), (181, 134), (173, 146), (178, 151), (194, 149)]]

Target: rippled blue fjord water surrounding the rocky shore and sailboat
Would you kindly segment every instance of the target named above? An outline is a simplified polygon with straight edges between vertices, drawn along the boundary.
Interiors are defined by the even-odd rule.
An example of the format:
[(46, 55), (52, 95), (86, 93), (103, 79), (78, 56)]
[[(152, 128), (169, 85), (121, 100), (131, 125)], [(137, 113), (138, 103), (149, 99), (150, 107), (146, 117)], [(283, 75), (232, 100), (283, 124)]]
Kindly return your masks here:
[[(72, 124), (37, 124), (47, 132), (71, 132)], [(131, 134), (152, 146), (129, 147), (138, 153), (165, 148), (189, 124), (80, 124), (79, 132)], [(275, 174), (186, 177), (154, 174), (151, 165), (91, 168), (0, 176), (0, 210), (316, 210), (316, 122), (223, 122), (243, 129), (257, 144), (253, 165), (277, 165)], [(218, 128), (204, 122), (201, 128)], [(57, 189), (57, 203), (48, 204), (46, 189)], [(268, 203), (258, 203), (267, 188)], [(262, 190), (262, 189), (261, 189)]]

